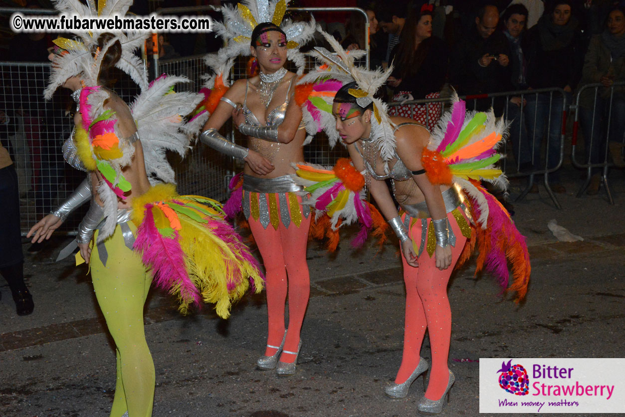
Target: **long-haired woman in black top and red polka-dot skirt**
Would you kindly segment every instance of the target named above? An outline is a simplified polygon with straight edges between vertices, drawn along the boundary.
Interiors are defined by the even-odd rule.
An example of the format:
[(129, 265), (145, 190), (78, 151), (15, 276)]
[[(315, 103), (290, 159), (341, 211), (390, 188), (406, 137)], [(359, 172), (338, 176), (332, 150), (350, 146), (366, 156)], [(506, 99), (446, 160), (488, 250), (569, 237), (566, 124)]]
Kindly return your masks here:
[[(439, 98), (448, 67), (447, 45), (432, 36), (431, 4), (416, 3), (410, 9), (399, 44), (391, 53), (394, 66), (388, 84), (393, 101)], [(441, 104), (402, 105), (389, 114), (412, 118), (430, 131), (441, 117)]]

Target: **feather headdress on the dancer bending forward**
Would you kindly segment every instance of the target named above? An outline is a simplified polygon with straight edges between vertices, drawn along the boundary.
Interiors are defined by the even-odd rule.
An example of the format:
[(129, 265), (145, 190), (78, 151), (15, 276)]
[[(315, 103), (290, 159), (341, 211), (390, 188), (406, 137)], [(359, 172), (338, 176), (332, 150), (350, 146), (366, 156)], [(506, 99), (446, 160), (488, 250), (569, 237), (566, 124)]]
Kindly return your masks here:
[[(339, 137), (332, 116), (332, 101), (334, 94), (343, 84), (356, 81), (357, 89), (349, 91), (349, 94), (356, 98), (356, 102), (361, 107), (366, 107), (373, 103), (373, 116), (371, 118), (371, 138), (375, 141), (380, 149), (382, 160), (386, 163), (394, 156), (395, 138), (393, 134), (393, 125), (387, 113), (386, 103), (375, 98), (374, 94), (385, 82), (392, 72), (392, 66), (386, 71), (369, 70), (359, 67), (355, 64), (355, 60), (360, 58), (364, 51), (345, 51), (341, 44), (330, 34), (317, 28), (326, 38), (334, 53), (325, 48), (314, 48), (311, 53), (321, 64), (317, 65), (315, 71), (303, 76), (299, 81), (299, 86), (312, 84), (311, 94), (304, 100), (305, 106), (302, 106), (303, 119), (306, 123), (306, 131), (309, 135), (314, 135), (323, 130), (326, 132), (331, 146), (336, 144)], [(334, 94), (315, 94), (316, 91), (324, 91), (321, 86), (327, 84), (329, 80), (334, 80)], [(329, 91), (329, 90), (325, 90)], [(326, 113), (326, 114), (324, 114)]]

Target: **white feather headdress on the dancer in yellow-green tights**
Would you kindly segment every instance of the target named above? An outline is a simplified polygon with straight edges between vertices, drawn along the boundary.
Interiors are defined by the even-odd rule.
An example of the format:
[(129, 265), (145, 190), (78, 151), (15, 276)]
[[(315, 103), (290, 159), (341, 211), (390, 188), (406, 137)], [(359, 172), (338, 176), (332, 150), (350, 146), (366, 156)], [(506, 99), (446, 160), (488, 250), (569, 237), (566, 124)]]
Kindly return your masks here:
[[(54, 7), (61, 13), (76, 14), (80, 17), (107, 17), (124, 15), (133, 4), (132, 0), (100, 0), (96, 8), (95, 0), (88, 0), (88, 5), (79, 0), (54, 0)], [(81, 76), (87, 86), (98, 85), (98, 74), (102, 59), (116, 41), (121, 44), (121, 58), (115, 66), (128, 74), (141, 89), (148, 86), (148, 79), (141, 59), (134, 55), (135, 49), (143, 45), (148, 33), (116, 31), (114, 38), (98, 50), (99, 33), (74, 30), (76, 39), (57, 38), (54, 43), (63, 49), (61, 54), (54, 54), (52, 73), (44, 90), (44, 97), (51, 99), (54, 91), (70, 77)]]

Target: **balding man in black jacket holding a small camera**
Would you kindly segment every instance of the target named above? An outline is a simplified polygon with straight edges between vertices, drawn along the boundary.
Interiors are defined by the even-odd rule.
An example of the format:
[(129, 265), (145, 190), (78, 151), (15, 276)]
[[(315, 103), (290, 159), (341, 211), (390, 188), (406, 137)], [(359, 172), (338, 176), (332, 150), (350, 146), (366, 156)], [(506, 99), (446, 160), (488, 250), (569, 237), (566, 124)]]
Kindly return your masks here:
[[(486, 94), (504, 91), (509, 84), (509, 48), (504, 34), (497, 30), (499, 11), (486, 5), (479, 9), (475, 25), (456, 44), (451, 56), (451, 83), (460, 94)], [(501, 115), (503, 101), (494, 103), (495, 113)], [(467, 108), (486, 110), (491, 99), (467, 101)]]

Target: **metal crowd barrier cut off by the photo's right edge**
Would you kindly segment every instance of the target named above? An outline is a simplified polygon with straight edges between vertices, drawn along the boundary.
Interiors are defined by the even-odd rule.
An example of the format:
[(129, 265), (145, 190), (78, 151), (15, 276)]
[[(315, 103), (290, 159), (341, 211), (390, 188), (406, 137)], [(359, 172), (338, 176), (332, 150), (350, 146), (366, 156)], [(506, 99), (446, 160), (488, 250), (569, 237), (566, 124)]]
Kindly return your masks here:
[[(591, 108), (587, 106), (588, 99), (592, 99)], [(620, 154), (622, 161), (622, 147), (625, 146), (625, 82), (614, 83), (610, 87), (604, 87), (601, 83), (586, 84), (577, 91), (574, 103), (571, 106), (571, 109), (575, 111), (571, 161), (576, 168), (586, 169), (586, 179), (577, 191), (577, 197), (581, 197), (586, 191), (593, 171), (599, 174), (596, 171), (600, 169), (601, 184), (609, 203), (614, 204), (607, 182), (608, 170), (614, 166), (614, 163), (609, 161), (608, 154), (610, 144), (615, 143), (617, 144), (614, 149), (616, 155), (612, 158), (618, 158), (617, 155)], [(584, 138), (583, 156), (579, 155), (577, 148), (580, 123)]]

